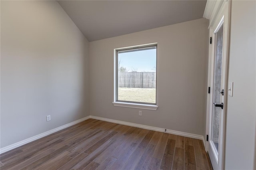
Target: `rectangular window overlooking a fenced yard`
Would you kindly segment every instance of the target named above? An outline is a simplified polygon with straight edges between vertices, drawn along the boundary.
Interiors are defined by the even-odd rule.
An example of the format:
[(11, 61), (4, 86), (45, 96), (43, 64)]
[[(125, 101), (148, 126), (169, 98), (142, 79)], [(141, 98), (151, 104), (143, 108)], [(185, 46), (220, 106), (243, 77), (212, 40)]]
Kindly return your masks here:
[(114, 105), (156, 110), (157, 44), (115, 49), (115, 54)]

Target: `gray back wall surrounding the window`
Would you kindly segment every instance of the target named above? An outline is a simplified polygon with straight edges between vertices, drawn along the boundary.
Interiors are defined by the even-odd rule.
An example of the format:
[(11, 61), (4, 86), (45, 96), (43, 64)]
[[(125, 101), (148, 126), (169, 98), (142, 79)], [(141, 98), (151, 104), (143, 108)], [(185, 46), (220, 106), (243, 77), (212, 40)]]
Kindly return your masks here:
[[(158, 43), (156, 111), (114, 107), (114, 49)], [(205, 134), (208, 20), (198, 19), (90, 42), (90, 114)]]

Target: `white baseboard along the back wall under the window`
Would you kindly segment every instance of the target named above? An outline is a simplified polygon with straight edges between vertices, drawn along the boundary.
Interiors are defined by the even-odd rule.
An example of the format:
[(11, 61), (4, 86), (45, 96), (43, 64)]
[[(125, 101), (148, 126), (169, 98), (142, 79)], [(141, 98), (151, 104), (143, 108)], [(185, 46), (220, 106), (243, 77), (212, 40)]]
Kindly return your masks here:
[(136, 124), (136, 123), (117, 121), (117, 120), (114, 120), (114, 119), (106, 119), (106, 118), (96, 117), (96, 116), (90, 116), (90, 118), (91, 119), (97, 119), (97, 120), (100, 120), (100, 121), (117, 123), (117, 124), (121, 124), (121, 125), (127, 125), (127, 126), (131, 126), (131, 127), (138, 127), (138, 128), (144, 128), (144, 129), (154, 130), (154, 131), (158, 131), (158, 132), (166, 132), (166, 133), (170, 133), (170, 134), (176, 134), (176, 135), (185, 136), (185, 137), (188, 137), (188, 138), (200, 139), (200, 140), (203, 141), (204, 148), (205, 148), (205, 140), (204, 140), (204, 136), (202, 136), (202, 135), (180, 132), (180, 131), (170, 130), (170, 129), (166, 129), (166, 131), (165, 131), (164, 128), (151, 127), (151, 126), (140, 125), (140, 124)]

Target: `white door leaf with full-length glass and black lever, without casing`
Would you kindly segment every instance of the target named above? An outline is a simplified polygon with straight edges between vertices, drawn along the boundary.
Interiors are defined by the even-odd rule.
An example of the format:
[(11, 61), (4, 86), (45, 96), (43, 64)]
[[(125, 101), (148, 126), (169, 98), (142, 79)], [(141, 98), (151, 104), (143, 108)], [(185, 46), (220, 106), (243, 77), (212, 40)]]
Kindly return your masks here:
[[(210, 123), (210, 149), (208, 150), (212, 166), (214, 170), (218, 167), (220, 144), (222, 131), (222, 115), (224, 106), (224, 87), (223, 87), (223, 23), (220, 28), (214, 32), (214, 73), (212, 86), (212, 109), (211, 109), (211, 123)], [(218, 168), (219, 169), (219, 168)]]

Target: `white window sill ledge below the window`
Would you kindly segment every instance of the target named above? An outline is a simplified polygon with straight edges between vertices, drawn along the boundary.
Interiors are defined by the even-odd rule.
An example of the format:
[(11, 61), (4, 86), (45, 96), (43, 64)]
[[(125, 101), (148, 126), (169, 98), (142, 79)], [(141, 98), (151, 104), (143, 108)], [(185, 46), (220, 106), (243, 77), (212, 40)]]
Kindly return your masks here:
[(146, 105), (146, 104), (140, 104), (140, 103), (126, 103), (126, 102), (113, 102), (114, 106), (118, 107), (130, 107), (130, 108), (136, 108), (136, 109), (146, 109), (146, 110), (152, 110), (156, 111), (158, 108), (157, 105)]

